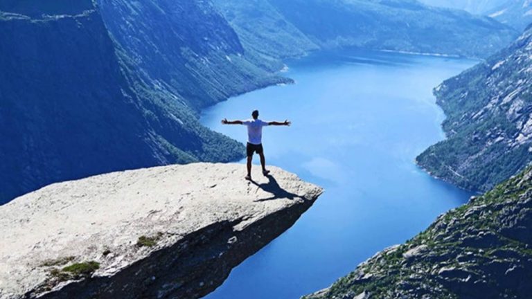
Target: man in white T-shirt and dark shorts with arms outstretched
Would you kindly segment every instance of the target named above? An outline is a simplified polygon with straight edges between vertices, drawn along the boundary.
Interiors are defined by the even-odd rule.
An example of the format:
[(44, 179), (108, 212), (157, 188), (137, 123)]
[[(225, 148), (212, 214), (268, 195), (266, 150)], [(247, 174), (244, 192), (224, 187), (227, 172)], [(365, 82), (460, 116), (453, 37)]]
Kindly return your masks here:
[(267, 176), (269, 170), (266, 170), (266, 159), (264, 157), (263, 149), (263, 127), (268, 125), (285, 125), (289, 126), (290, 122), (285, 120), (284, 123), (280, 122), (269, 122), (266, 123), (263, 120), (258, 119), (258, 110), (255, 110), (251, 113), (253, 119), (251, 120), (232, 120), (229, 121), (227, 118), (222, 120), (224, 125), (245, 125), (247, 126), (247, 176), (246, 179), (251, 181), (251, 161), (253, 161), (253, 154), (257, 153), (260, 156), (260, 164), (263, 165), (263, 174)]

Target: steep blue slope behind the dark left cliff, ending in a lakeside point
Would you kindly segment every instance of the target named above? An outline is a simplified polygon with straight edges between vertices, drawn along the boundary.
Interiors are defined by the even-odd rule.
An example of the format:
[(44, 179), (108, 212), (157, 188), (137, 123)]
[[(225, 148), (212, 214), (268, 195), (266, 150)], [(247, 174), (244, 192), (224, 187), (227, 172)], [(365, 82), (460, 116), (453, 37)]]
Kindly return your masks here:
[(245, 53), (210, 1), (99, 0), (114, 41), (136, 69), (195, 109), (286, 79), (281, 69)]

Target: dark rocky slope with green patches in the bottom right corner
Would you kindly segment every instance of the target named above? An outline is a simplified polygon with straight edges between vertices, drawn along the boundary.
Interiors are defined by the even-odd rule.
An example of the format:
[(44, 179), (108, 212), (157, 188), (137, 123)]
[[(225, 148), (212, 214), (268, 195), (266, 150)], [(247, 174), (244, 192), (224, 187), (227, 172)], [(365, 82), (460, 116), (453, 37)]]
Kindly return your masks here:
[(529, 169), (306, 298), (530, 298), (531, 219)]

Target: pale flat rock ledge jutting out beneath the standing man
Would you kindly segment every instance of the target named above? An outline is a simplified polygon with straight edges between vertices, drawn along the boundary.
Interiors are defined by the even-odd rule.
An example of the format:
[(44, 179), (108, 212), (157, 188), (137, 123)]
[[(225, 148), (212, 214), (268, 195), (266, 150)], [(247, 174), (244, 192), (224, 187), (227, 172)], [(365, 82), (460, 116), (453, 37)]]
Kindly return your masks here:
[(321, 188), (198, 163), (49, 185), (0, 207), (0, 298), (199, 298)]

